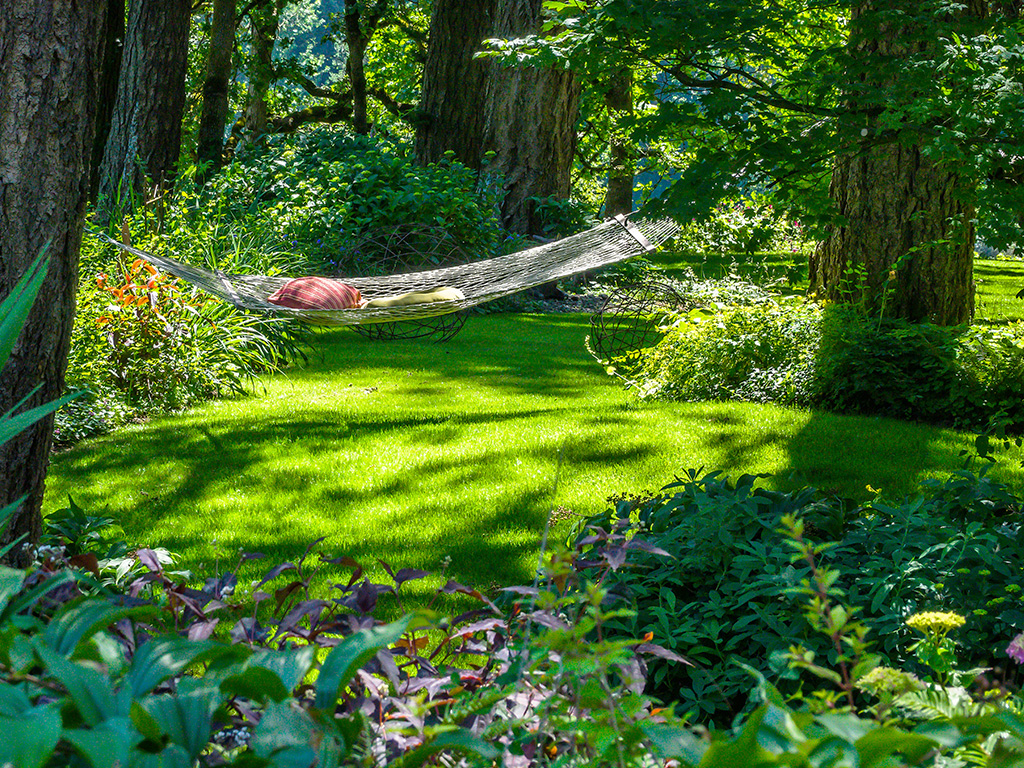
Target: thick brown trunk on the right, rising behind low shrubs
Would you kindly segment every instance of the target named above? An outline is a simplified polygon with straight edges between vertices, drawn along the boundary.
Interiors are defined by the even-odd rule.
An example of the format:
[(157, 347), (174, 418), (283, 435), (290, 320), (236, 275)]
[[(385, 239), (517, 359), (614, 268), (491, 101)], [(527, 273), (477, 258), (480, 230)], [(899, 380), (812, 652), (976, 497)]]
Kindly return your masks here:
[[(900, 0), (912, 18), (921, 3)], [(891, 3), (863, 3), (851, 19), (850, 54), (863, 81), (861, 94), (898, 93), (884, 62), (927, 53), (918, 30), (874, 15)], [(982, 15), (971, 0), (963, 12)], [(891, 12), (888, 18), (899, 18)], [(911, 47), (912, 46), (912, 47)], [(878, 75), (874, 75), (878, 73)], [(873, 78), (873, 79), (872, 79)], [(849, 103), (856, 115), (862, 104)], [(911, 131), (886, 140), (870, 110), (851, 118), (865, 125), (859, 151), (839, 156), (829, 194), (843, 223), (831, 227), (811, 257), (811, 291), (835, 301), (859, 303), (872, 313), (911, 322), (957, 325), (974, 310), (974, 181), (941, 157), (926, 157)], [(874, 141), (876, 136), (882, 140)]]

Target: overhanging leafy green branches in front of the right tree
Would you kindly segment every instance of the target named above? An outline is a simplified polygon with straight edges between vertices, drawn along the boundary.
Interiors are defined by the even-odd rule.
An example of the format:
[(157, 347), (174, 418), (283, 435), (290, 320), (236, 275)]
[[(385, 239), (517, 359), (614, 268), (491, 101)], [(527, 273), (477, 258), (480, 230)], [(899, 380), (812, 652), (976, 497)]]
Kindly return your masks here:
[[(1020, 18), (954, 0), (547, 2), (547, 36), (492, 41), (506, 59), (590, 77), (649, 73), (631, 128), (683, 168), (658, 205), (690, 219), (770, 188), (808, 223), (833, 215), (831, 161), (901, 142), (958, 169), (992, 244), (1013, 239), (1024, 178)], [(873, 5), (873, 7), (872, 7)], [(861, 7), (857, 7), (861, 6)], [(678, 153), (672, 163), (680, 162)]]

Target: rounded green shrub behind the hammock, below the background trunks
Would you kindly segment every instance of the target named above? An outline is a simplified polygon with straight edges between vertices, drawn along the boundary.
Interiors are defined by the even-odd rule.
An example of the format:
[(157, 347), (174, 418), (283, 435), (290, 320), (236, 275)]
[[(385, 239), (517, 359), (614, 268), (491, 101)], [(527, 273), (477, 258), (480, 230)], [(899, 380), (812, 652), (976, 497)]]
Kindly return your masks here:
[(319, 273), (373, 274), (375, 254), (348, 249), (398, 223), (442, 227), (473, 256), (492, 255), (503, 233), (494, 200), (475, 189), (459, 163), (423, 168), (397, 143), (321, 128), (268, 138), (180, 196), (175, 215), (187, 231), (260, 232)]

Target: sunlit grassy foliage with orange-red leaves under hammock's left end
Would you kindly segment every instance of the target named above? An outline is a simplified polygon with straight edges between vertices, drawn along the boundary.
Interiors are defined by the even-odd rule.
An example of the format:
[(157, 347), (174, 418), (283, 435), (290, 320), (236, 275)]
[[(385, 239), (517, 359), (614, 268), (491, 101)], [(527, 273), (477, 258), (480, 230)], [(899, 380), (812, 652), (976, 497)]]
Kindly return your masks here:
[(66, 412), (58, 438), (103, 431), (132, 412), (240, 393), (256, 374), (296, 354), (298, 338), (283, 322), (215, 302), (141, 259), (87, 271), (68, 381), (91, 389), (95, 408)]

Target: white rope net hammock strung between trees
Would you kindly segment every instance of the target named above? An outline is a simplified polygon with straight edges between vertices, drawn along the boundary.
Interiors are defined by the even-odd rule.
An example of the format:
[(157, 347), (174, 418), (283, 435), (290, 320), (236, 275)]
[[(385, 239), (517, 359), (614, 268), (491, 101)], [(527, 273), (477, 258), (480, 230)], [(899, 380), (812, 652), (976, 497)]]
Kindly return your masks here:
[(321, 326), (359, 326), (457, 312), (527, 288), (653, 251), (678, 231), (679, 227), (671, 219), (641, 219), (633, 222), (625, 216), (616, 216), (579, 234), (507, 256), (403, 274), (339, 278), (359, 289), (365, 299), (431, 291), (442, 286), (457, 288), (465, 296), (463, 299), (429, 304), (352, 309), (295, 309), (279, 306), (268, 302), (266, 297), (288, 283), (290, 278), (211, 271), (127, 246), (102, 233), (96, 233), (96, 237), (242, 309), (273, 312)]

